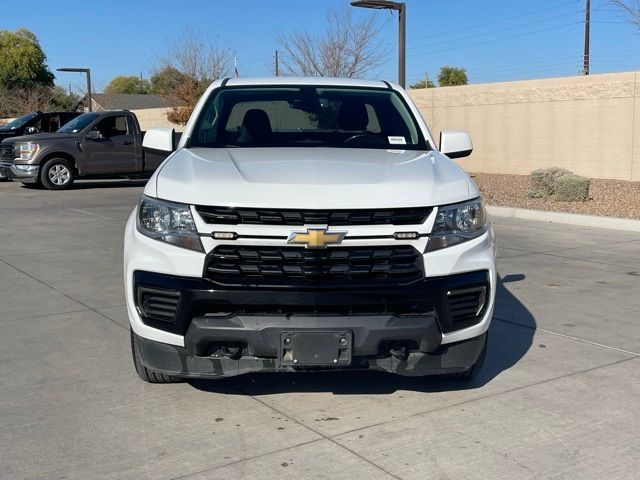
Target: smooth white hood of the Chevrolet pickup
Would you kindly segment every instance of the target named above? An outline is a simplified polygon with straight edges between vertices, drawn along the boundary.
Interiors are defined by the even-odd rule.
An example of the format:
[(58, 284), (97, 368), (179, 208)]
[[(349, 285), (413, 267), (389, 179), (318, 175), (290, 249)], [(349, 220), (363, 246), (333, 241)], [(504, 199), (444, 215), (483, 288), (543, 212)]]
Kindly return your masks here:
[(147, 195), (212, 206), (390, 208), (477, 196), (467, 174), (435, 151), (183, 148), (153, 180)]

